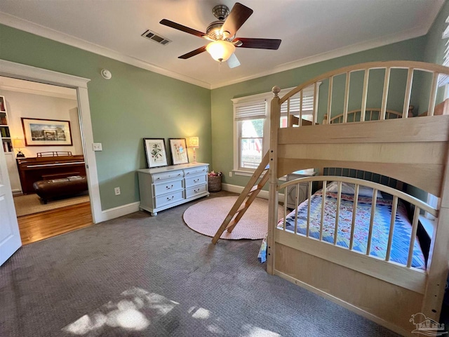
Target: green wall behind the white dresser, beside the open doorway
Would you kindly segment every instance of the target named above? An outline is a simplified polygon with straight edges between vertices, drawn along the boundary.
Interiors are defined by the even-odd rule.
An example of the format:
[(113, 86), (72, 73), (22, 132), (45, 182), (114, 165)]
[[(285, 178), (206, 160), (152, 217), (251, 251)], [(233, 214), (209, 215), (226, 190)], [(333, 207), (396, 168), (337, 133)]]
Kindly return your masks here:
[[(142, 138), (199, 136), (210, 163), (210, 90), (0, 25), (0, 59), (91, 79), (88, 83), (102, 209), (139, 201), (135, 170), (146, 168)], [(105, 80), (100, 70), (112, 72)], [(91, 145), (88, 145), (91, 146)], [(121, 195), (114, 195), (114, 187)]]

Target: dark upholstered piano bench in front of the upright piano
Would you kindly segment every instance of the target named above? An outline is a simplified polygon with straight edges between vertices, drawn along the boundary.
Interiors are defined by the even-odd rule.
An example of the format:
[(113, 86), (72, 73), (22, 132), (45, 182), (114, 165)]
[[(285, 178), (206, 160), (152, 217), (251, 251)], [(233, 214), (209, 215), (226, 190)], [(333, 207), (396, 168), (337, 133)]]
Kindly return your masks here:
[(41, 197), (43, 204), (46, 204), (49, 199), (69, 197), (88, 189), (86, 176), (39, 180), (33, 183), (33, 188), (34, 192)]

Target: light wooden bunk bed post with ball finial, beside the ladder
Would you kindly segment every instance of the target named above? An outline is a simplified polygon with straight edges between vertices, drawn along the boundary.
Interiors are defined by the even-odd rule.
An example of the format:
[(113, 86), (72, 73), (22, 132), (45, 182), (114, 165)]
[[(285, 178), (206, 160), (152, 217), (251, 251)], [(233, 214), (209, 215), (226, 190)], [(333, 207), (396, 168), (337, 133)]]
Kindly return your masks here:
[(274, 98), (270, 110), (270, 134), (269, 134), (269, 208), (268, 208), (268, 238), (267, 238), (267, 272), (274, 275), (274, 240), (275, 229), (278, 220), (278, 177), (277, 177), (277, 146), (278, 128), (281, 118), (281, 105), (279, 104), (279, 92), (281, 88), (274, 86), (272, 92)]

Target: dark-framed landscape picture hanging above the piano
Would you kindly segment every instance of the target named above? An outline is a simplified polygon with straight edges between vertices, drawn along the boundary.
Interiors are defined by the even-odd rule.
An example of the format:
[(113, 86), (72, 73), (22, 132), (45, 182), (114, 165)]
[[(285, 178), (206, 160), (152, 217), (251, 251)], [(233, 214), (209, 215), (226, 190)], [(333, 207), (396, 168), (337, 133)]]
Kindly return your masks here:
[(70, 121), (22, 118), (27, 146), (72, 145)]

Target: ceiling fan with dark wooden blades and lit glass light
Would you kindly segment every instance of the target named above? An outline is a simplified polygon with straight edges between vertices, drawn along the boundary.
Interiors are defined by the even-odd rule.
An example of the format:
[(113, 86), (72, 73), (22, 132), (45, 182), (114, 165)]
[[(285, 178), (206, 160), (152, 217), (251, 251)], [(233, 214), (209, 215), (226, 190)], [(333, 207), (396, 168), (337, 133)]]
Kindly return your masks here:
[(199, 32), (196, 29), (166, 19), (159, 22), (162, 25), (210, 41), (208, 45), (181, 55), (178, 58), (192, 58), (194, 55), (207, 51), (214, 60), (217, 60), (220, 63), (222, 61), (227, 61), (229, 67), (234, 68), (240, 65), (239, 60), (237, 60), (236, 55), (234, 54), (236, 47), (277, 50), (281, 44), (281, 40), (279, 39), (250, 39), (246, 37), (236, 37), (237, 30), (239, 30), (243, 23), (245, 23), (250, 15), (253, 14), (251, 8), (243, 6), (238, 2), (234, 4), (234, 7), (232, 7), (230, 12), (227, 6), (217, 5), (213, 8), (212, 13), (218, 20), (211, 22), (210, 25), (208, 25), (206, 33)]

